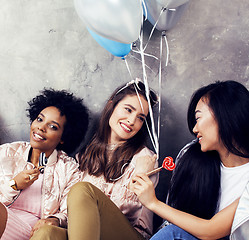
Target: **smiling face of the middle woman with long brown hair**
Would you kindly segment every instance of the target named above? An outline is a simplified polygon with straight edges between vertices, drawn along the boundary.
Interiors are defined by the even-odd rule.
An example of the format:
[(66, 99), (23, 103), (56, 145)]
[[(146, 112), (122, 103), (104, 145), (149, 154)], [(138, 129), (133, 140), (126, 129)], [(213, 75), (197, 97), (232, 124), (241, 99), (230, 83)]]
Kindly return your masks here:
[(121, 143), (137, 134), (143, 126), (149, 111), (148, 102), (140, 95), (127, 95), (115, 107), (110, 119), (111, 134), (109, 143)]

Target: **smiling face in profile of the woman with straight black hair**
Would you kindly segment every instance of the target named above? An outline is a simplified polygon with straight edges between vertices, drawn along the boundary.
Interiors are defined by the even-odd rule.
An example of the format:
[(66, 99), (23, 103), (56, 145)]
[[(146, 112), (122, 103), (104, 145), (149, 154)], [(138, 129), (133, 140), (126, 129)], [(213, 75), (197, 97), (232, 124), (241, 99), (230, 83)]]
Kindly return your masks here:
[(197, 135), (203, 152), (223, 149), (219, 138), (219, 128), (214, 115), (207, 104), (208, 100), (200, 99), (195, 109), (196, 124), (193, 132)]

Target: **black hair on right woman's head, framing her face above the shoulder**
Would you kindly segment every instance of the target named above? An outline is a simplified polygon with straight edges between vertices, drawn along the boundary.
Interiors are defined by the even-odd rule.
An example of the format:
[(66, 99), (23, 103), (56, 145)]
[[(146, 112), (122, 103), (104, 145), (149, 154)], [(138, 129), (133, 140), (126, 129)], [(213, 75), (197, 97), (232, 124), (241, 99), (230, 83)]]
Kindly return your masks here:
[(199, 100), (208, 104), (218, 123), (219, 136), (227, 150), (249, 157), (249, 92), (236, 81), (217, 81), (198, 89), (188, 108), (188, 127), (196, 124), (195, 109)]

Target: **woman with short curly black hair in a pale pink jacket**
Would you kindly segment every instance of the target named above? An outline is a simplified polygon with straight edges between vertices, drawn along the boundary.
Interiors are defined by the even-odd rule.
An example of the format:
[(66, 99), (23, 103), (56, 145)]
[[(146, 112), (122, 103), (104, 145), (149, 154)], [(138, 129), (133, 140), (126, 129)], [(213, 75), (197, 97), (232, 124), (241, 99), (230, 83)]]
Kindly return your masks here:
[(44, 224), (66, 227), (67, 193), (80, 178), (78, 163), (68, 154), (87, 130), (82, 99), (45, 89), (27, 110), (30, 142), (0, 146), (2, 240), (29, 239)]

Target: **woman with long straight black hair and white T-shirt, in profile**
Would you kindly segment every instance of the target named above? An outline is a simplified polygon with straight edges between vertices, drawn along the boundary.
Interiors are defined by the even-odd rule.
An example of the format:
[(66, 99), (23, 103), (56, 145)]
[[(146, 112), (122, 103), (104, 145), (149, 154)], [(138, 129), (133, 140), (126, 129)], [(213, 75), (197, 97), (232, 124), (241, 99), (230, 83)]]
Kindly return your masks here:
[[(187, 161), (180, 160), (179, 176), (176, 172), (173, 177), (171, 196), (169, 196), (169, 202), (173, 207), (156, 198), (153, 184), (146, 175), (134, 177), (131, 189), (140, 201), (148, 209), (171, 223), (158, 231), (152, 237), (153, 240), (219, 239), (227, 235), (236, 240), (248, 239), (248, 109), (249, 92), (236, 81), (216, 82), (194, 93), (188, 109), (189, 130), (197, 137), (201, 151), (216, 152), (219, 161), (216, 161), (217, 155), (214, 155), (210, 164), (206, 160), (205, 164), (202, 158), (198, 159), (196, 153), (199, 150), (196, 149), (193, 151), (194, 158), (192, 159), (195, 162), (192, 163), (193, 153), (187, 151), (187, 155), (183, 157)], [(192, 151), (192, 147), (189, 151)], [(208, 156), (210, 157), (211, 155)], [(217, 169), (217, 164), (219, 169)], [(194, 166), (193, 169), (189, 168), (191, 165)], [(213, 179), (205, 178), (209, 174)], [(184, 176), (189, 175), (193, 177), (190, 182), (194, 185), (185, 184)], [(220, 179), (218, 182), (217, 177), (218, 180)], [(180, 181), (186, 188), (184, 189), (185, 196), (176, 192)], [(210, 191), (213, 188), (212, 183), (216, 183), (213, 192)], [(206, 193), (201, 189), (202, 186), (203, 190), (207, 191)], [(179, 189), (182, 188), (179, 187)], [(195, 192), (198, 189), (200, 193)], [(182, 199), (176, 199), (179, 196)], [(198, 197), (203, 200), (205, 196), (211, 201), (210, 206), (206, 201), (204, 201), (205, 204), (198, 201)], [(214, 199), (210, 199), (210, 196), (214, 196)], [(189, 202), (188, 198), (193, 198), (195, 201)], [(207, 209), (202, 209), (202, 207)]]

